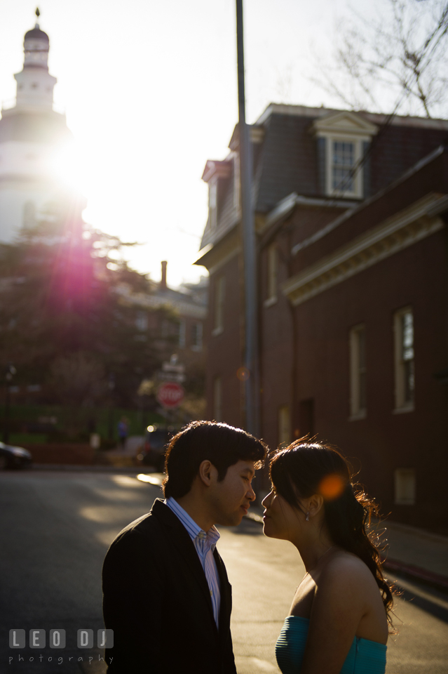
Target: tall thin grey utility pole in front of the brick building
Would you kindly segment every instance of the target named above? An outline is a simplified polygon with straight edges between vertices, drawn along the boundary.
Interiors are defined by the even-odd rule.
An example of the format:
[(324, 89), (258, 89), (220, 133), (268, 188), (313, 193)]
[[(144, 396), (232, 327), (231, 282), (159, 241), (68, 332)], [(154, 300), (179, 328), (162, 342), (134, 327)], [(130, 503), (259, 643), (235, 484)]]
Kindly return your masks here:
[(252, 209), (252, 156), (249, 127), (245, 118), (243, 0), (236, 0), (236, 46), (238, 60), (238, 130), (240, 136), (241, 232), (243, 239), (245, 299), (245, 425), (259, 435), (259, 371), (257, 319), (257, 258)]

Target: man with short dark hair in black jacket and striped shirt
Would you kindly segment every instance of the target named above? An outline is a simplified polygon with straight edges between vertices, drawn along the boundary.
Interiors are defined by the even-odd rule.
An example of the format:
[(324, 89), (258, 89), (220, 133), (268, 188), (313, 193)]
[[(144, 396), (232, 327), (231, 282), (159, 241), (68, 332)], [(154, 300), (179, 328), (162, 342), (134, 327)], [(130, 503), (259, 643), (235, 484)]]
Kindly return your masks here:
[(240, 524), (265, 454), (263, 442), (224, 423), (196, 421), (172, 438), (165, 501), (125, 527), (104, 560), (109, 674), (236, 674), (215, 524)]

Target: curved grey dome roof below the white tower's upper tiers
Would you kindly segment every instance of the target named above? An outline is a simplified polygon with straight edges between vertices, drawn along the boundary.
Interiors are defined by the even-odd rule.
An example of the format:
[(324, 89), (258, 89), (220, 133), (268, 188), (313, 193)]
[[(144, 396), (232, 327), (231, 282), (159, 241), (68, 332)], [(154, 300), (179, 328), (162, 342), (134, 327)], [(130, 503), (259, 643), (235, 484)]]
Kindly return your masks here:
[(0, 143), (7, 140), (58, 143), (71, 138), (65, 117), (57, 112), (8, 114), (0, 119)]

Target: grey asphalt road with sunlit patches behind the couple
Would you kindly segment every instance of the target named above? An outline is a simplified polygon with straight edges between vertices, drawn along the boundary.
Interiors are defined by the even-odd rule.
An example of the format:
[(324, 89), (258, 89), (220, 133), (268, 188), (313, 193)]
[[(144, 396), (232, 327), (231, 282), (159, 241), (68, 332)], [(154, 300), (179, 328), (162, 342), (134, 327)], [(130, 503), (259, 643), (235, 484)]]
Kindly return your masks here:
[[(133, 475), (0, 474), (0, 674), (104, 672), (99, 649), (77, 649), (76, 631), (102, 628), (107, 547), (160, 495)], [(220, 532), (219, 552), (233, 585), (238, 674), (278, 673), (274, 647), (304, 574), (300, 557), (290, 543), (264, 538), (262, 527), (248, 520)], [(388, 642), (387, 674), (448, 674), (448, 596), (398, 582), (400, 633)], [(48, 634), (60, 628), (67, 633), (65, 649), (8, 647), (10, 629)]]

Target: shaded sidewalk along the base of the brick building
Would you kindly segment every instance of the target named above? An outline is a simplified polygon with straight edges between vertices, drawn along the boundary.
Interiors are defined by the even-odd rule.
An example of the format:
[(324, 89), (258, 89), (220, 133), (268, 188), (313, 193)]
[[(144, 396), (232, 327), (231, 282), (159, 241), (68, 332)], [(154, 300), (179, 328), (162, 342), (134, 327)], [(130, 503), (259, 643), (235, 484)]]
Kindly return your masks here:
[[(263, 508), (251, 505), (247, 518), (262, 524), (262, 515)], [(379, 524), (379, 533), (383, 529), (386, 529), (383, 541), (387, 541), (385, 569), (448, 591), (448, 536), (391, 520)]]

